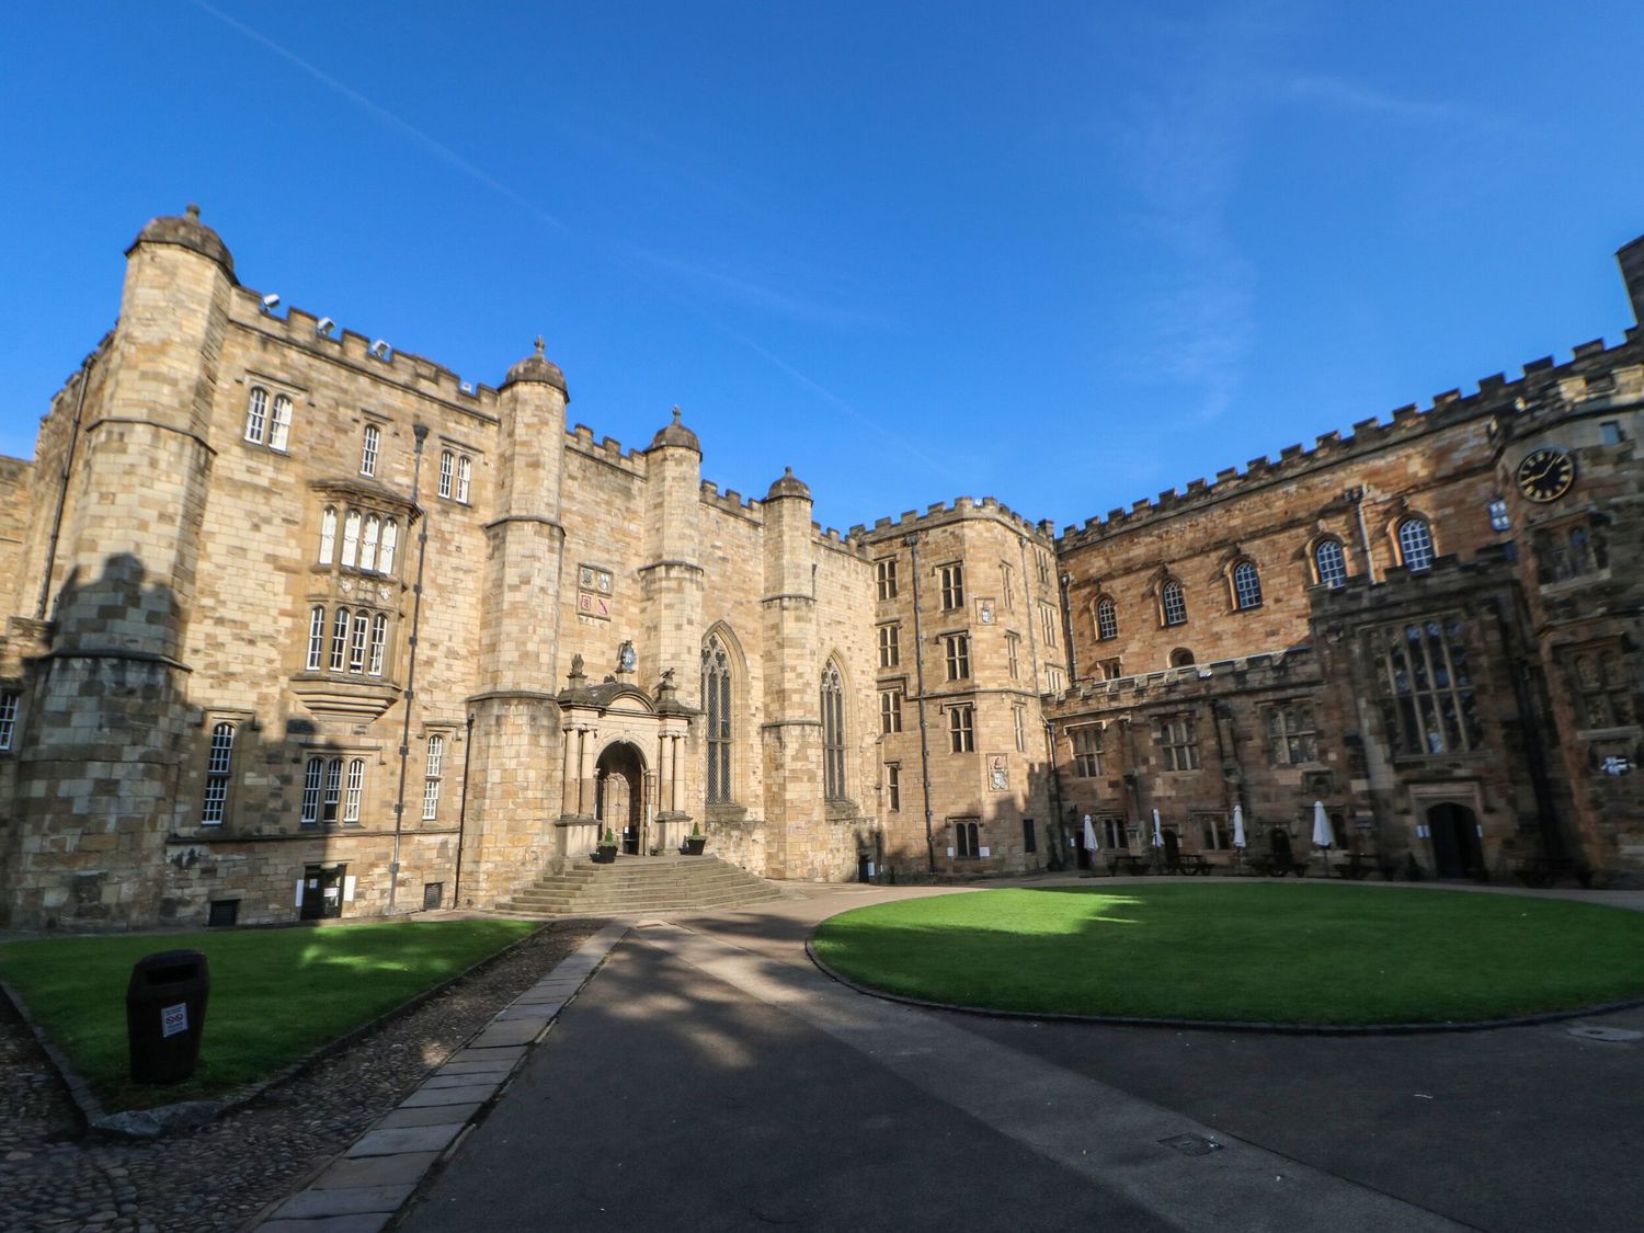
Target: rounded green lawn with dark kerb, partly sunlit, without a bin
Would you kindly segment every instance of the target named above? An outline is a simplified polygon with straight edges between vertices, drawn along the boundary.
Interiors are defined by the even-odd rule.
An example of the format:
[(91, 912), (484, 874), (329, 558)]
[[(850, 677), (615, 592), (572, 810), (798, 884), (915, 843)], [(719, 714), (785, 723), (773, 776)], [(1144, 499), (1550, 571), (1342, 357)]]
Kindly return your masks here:
[(1028, 1013), (1443, 1023), (1644, 996), (1644, 912), (1414, 888), (944, 894), (843, 912), (814, 945), (873, 988)]

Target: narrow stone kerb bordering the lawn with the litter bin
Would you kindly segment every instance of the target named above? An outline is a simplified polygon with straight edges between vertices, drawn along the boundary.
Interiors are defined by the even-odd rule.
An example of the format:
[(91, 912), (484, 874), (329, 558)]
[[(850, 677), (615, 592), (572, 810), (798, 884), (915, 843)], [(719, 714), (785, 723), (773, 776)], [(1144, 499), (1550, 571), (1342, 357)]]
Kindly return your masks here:
[(143, 1110), (118, 1110), (115, 1113), (109, 1113), (102, 1106), (102, 1101), (97, 1100), (97, 1095), (92, 1092), (90, 1083), (85, 1082), (85, 1078), (79, 1074), (79, 1070), (74, 1069), (67, 1055), (61, 1049), (58, 1049), (58, 1046), (51, 1041), (51, 1036), (46, 1032), (46, 1029), (35, 1021), (35, 1016), (30, 1013), (28, 1003), (23, 1001), (21, 995), (18, 995), (18, 991), (13, 990), (3, 980), (0, 980), (0, 993), (3, 993), (7, 1001), (12, 1003), (12, 1008), (18, 1013), (18, 1018), (23, 1021), (30, 1034), (35, 1037), (35, 1044), (38, 1044), (41, 1052), (46, 1054), (46, 1059), (58, 1072), (58, 1078), (61, 1078), (62, 1085), (69, 1090), (69, 1097), (74, 1100), (74, 1106), (79, 1110), (81, 1116), (85, 1118), (87, 1128), (100, 1131), (104, 1134), (112, 1134), (115, 1138), (156, 1139), (166, 1134), (179, 1134), (182, 1131), (197, 1129), (199, 1126), (215, 1121), (225, 1113), (232, 1113), (233, 1110), (248, 1105), (270, 1088), (278, 1087), (291, 1078), (296, 1078), (299, 1074), (312, 1067), (316, 1062), (322, 1062), (327, 1057), (342, 1052), (344, 1049), (365, 1039), (372, 1032), (388, 1026), (399, 1016), (409, 1014), (418, 1006), (423, 1006), (426, 1001), (437, 998), (452, 985), (457, 985), (459, 981), (464, 981), (469, 977), (483, 972), (493, 963), (501, 962), (515, 950), (523, 947), (526, 942), (529, 942), (533, 937), (536, 937), (543, 929), (547, 927), (547, 924), (549, 922), (544, 921), (524, 937), (510, 942), (501, 950), (487, 955), (477, 963), (470, 963), (454, 977), (447, 977), (437, 985), (431, 985), (429, 988), (414, 995), (408, 1001), (399, 1003), (391, 1011), (385, 1011), (383, 1014), (378, 1014), (375, 1019), (362, 1023), (358, 1028), (353, 1028), (344, 1032), (342, 1036), (327, 1041), (326, 1044), (317, 1046), (316, 1049), (311, 1049), (296, 1062), (275, 1072), (268, 1078), (243, 1087), (238, 1092), (233, 1092), (220, 1100), (182, 1100), (174, 1105), (158, 1105), (155, 1108), (143, 1108)]

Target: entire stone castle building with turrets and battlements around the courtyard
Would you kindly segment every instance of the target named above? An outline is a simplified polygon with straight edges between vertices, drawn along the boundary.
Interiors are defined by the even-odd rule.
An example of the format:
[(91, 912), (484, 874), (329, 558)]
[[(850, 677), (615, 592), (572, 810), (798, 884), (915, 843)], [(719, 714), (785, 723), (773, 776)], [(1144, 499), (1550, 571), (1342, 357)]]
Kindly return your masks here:
[(677, 411), (623, 449), (567, 401), (541, 344), (470, 386), (148, 224), (0, 460), (0, 919), (483, 907), (607, 829), (843, 880), (1154, 812), (1228, 863), (1238, 807), (1317, 866), (1315, 802), (1392, 873), (1644, 873), (1637, 329), (1060, 534), (824, 531)]

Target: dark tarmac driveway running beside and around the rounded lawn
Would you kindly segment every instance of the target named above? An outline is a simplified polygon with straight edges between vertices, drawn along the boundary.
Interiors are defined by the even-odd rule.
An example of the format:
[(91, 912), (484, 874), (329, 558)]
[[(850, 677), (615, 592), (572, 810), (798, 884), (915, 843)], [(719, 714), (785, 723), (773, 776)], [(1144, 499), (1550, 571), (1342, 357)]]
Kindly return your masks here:
[[(633, 922), (488, 1116), (418, 1144), (404, 1228), (1644, 1228), (1644, 1044), (991, 1019), (852, 993), (804, 955), (837, 911), (934, 893)], [(363, 1197), (358, 1157), (335, 1169)], [(404, 1194), (304, 1226), (376, 1230)]]

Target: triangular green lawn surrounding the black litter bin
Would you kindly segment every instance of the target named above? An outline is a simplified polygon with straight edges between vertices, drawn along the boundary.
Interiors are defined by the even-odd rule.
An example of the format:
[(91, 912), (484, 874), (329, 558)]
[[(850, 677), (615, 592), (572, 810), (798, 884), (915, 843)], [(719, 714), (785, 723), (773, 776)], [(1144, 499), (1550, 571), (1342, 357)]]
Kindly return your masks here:
[[(107, 1108), (145, 1108), (263, 1078), (536, 927), (437, 921), (53, 937), (0, 944), (0, 978)], [(132, 965), (156, 950), (201, 950), (210, 965), (201, 1065), (182, 1083), (136, 1087), (127, 1077), (125, 986)]]

